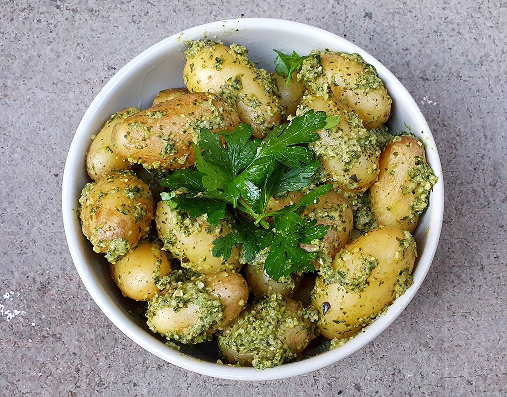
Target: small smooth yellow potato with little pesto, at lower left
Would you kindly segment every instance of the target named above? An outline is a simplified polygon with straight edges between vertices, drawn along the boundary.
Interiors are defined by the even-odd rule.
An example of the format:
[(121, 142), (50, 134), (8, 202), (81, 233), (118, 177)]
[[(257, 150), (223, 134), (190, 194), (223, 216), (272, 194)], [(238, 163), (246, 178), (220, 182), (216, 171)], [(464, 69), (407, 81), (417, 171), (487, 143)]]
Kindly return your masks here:
[(161, 247), (159, 243), (145, 241), (111, 264), (111, 276), (124, 296), (148, 301), (160, 293), (155, 282), (171, 271), (172, 259)]

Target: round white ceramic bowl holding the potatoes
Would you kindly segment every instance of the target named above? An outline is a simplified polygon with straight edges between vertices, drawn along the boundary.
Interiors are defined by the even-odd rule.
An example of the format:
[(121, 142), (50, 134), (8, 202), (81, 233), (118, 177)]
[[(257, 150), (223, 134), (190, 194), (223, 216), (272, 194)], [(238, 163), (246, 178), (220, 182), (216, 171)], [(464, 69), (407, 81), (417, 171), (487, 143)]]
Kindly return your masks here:
[[(419, 258), (414, 271), (414, 285), (363, 332), (338, 349), (264, 371), (216, 364), (210, 358), (212, 354), (207, 355), (205, 351), (185, 354), (173, 350), (151, 333), (142, 320), (128, 313), (129, 301), (121, 295), (109, 275), (108, 267), (92, 251), (91, 244), (83, 236), (77, 211), (81, 189), (89, 182), (85, 154), (90, 137), (118, 110), (130, 106), (148, 108), (159, 90), (183, 87), (184, 42), (203, 37), (246, 46), (249, 58), (269, 71), (274, 70), (273, 59), (276, 54), (273, 48), (285, 53), (295, 50), (300, 55), (325, 48), (357, 52), (374, 65), (393, 99), (388, 122), (390, 130), (406, 130), (409, 127), (426, 145), (427, 160), (439, 181), (433, 187), (429, 207), (421, 217), (415, 234)], [(263, 18), (219, 21), (193, 27), (162, 40), (125, 65), (102, 88), (86, 111), (68, 152), (62, 186), (63, 223), (68, 247), (83, 283), (105, 315), (134, 342), (176, 366), (200, 374), (238, 380), (269, 380), (300, 375), (330, 365), (371, 342), (400, 315), (421, 286), (437, 249), (443, 206), (442, 169), (428, 124), (408, 91), (384, 65), (364, 50), (328, 31), (297, 22)]]

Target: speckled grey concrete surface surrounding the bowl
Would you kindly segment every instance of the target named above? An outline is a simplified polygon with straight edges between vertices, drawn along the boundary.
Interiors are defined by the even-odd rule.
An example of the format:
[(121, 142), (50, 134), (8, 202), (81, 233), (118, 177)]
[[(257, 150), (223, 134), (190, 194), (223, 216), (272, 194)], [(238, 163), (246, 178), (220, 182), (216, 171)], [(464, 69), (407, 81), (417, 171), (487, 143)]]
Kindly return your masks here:
[[(419, 293), (373, 343), (304, 376), (226, 381), (142, 350), (96, 307), (60, 213), (67, 149), (93, 97), (184, 28), (275, 17), (346, 37), (420, 105), (446, 184)], [(0, 1), (0, 395), (504, 396), (507, 3)]]

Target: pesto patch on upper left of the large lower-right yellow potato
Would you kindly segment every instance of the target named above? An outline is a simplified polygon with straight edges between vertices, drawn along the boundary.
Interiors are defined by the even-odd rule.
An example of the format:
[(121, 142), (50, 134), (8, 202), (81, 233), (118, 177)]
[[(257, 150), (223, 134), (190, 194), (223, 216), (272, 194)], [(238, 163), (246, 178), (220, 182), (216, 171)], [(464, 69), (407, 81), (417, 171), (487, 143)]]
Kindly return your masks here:
[[(357, 255), (355, 253), (352, 255), (352, 261), (355, 262)], [(370, 284), (368, 279), (378, 262), (372, 255), (359, 253), (360, 266), (351, 272), (345, 266), (345, 261), (350, 260), (350, 256), (350, 252), (342, 250), (336, 255), (333, 267), (323, 266), (319, 269), (319, 273), (325, 279), (326, 284), (340, 284), (347, 292), (351, 293), (361, 292)]]

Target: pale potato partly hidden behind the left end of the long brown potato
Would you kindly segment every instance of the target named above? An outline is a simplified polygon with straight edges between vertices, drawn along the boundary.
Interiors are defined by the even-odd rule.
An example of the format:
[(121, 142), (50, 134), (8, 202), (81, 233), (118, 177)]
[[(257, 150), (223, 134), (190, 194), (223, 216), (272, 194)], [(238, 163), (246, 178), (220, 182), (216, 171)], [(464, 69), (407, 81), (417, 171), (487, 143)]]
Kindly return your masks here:
[(118, 155), (111, 140), (111, 133), (116, 124), (138, 112), (140, 110), (137, 108), (127, 108), (116, 112), (93, 138), (86, 153), (86, 171), (91, 179), (98, 181), (113, 172), (132, 169), (132, 164)]

